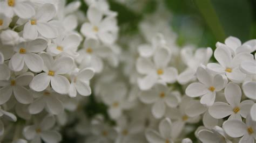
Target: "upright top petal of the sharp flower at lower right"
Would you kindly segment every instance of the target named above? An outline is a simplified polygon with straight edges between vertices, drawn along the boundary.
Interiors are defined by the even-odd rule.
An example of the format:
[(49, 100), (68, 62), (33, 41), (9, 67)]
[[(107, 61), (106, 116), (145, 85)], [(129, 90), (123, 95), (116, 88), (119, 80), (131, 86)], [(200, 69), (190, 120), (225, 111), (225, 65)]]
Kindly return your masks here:
[(242, 92), (240, 87), (237, 84), (233, 82), (228, 83), (224, 93), (225, 93), (227, 102), (231, 106), (235, 107), (239, 105), (241, 101)]

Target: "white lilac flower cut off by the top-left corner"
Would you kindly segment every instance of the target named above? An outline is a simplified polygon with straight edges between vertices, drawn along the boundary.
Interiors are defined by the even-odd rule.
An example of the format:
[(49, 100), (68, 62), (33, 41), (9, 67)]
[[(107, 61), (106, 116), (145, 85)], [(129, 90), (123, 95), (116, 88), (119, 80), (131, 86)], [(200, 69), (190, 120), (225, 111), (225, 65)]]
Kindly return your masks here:
[(22, 0), (4, 0), (0, 2), (0, 13), (6, 17), (12, 18), (17, 15), (20, 18), (27, 19), (35, 15), (35, 9), (31, 3)]

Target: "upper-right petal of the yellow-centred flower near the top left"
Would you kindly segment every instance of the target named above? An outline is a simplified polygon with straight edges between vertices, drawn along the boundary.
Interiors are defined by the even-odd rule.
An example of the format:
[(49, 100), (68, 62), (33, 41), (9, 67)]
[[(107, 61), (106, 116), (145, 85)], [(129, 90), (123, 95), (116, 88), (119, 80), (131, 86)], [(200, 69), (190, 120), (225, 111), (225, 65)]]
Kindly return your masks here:
[(38, 22), (48, 22), (55, 16), (55, 13), (55, 6), (53, 4), (46, 3), (38, 9), (35, 19), (38, 20)]

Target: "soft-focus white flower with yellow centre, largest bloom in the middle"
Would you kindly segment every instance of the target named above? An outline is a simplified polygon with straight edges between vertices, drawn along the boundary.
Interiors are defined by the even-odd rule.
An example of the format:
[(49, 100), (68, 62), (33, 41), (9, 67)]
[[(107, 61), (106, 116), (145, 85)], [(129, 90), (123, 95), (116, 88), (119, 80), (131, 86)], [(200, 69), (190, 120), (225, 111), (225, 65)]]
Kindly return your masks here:
[(158, 48), (153, 55), (153, 62), (150, 59), (138, 58), (136, 69), (144, 77), (138, 78), (138, 85), (141, 90), (148, 90), (157, 82), (174, 83), (178, 71), (168, 66), (171, 55), (166, 48)]

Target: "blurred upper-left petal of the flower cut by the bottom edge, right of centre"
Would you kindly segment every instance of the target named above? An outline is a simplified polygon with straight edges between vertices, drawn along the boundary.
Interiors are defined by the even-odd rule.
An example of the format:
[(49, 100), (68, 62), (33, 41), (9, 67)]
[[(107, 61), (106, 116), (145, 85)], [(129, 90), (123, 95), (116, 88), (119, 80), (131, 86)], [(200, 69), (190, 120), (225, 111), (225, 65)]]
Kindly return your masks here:
[(151, 142), (151, 143), (154, 143), (154, 142), (159, 142), (159, 143), (164, 143), (165, 142), (165, 139), (163, 139), (159, 133), (157, 133), (156, 131), (154, 130), (146, 130), (146, 138), (147, 138), (147, 141)]

